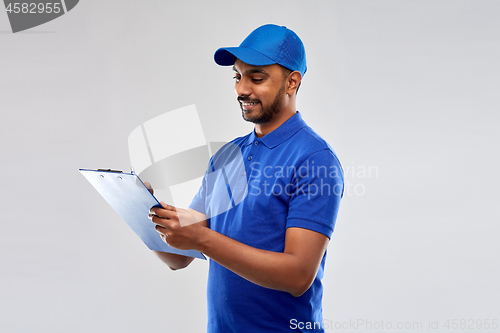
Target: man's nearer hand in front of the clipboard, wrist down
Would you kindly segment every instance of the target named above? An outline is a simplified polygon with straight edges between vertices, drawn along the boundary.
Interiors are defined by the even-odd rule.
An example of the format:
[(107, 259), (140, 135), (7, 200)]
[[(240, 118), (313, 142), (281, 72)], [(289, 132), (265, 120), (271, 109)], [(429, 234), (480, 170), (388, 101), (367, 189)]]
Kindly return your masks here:
[(208, 230), (206, 220), (199, 222), (191, 211), (164, 202), (161, 205), (149, 211), (149, 217), (156, 224), (155, 229), (161, 239), (176, 249), (199, 251), (203, 233)]

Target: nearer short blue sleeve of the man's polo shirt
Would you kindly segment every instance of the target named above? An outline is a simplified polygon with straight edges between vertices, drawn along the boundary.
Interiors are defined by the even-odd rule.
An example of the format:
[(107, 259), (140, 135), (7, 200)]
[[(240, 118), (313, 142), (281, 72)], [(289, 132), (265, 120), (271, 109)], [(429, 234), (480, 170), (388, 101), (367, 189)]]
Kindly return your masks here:
[(325, 149), (309, 155), (292, 177), (286, 227), (331, 238), (343, 191), (344, 174), (335, 154)]

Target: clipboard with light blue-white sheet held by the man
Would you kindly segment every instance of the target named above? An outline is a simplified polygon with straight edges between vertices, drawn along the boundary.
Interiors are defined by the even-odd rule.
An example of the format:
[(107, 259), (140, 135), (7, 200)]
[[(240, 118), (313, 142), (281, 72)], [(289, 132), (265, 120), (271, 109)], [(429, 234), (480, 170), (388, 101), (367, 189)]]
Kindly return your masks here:
[(148, 218), (149, 209), (161, 207), (161, 204), (135, 172), (124, 173), (111, 169), (79, 171), (150, 250), (206, 260), (201, 252), (178, 250), (163, 242), (155, 230), (155, 224)]

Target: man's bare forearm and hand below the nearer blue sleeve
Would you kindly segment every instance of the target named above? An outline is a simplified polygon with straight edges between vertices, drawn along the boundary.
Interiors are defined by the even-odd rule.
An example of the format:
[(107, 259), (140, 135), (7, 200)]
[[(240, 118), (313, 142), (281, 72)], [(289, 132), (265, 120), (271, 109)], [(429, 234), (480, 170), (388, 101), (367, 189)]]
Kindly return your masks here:
[[(152, 208), (151, 217), (168, 245), (200, 251), (257, 285), (293, 296), (302, 295), (311, 286), (329, 240), (315, 231), (288, 228), (282, 253), (261, 250), (213, 231), (206, 224), (196, 223), (196, 218), (187, 210), (163, 205), (163, 208)], [(193, 223), (185, 222), (189, 219)]]

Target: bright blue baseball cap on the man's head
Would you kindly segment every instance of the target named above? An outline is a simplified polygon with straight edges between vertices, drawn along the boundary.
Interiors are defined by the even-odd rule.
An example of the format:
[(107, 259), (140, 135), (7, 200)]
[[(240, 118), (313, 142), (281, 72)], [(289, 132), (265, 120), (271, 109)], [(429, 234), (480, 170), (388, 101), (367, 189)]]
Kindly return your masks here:
[(215, 62), (221, 66), (234, 65), (236, 58), (253, 66), (279, 64), (302, 76), (307, 71), (306, 50), (299, 36), (274, 24), (258, 27), (239, 47), (223, 47), (214, 54)]

